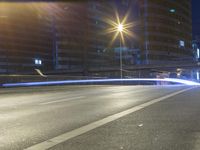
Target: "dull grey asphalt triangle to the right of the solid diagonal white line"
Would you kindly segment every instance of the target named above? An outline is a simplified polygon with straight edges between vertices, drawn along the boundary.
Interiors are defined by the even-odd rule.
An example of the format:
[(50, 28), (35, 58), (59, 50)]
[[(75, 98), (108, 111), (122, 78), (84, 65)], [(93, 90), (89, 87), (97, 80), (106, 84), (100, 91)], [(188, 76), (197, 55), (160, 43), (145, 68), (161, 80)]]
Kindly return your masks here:
[(50, 150), (200, 150), (200, 88), (91, 130)]

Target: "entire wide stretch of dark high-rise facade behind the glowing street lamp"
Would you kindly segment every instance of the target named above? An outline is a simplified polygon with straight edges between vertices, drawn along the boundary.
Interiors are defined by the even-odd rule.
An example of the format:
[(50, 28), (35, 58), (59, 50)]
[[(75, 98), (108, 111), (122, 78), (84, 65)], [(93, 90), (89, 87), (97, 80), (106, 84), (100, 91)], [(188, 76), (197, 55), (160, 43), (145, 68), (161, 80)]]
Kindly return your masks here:
[[(110, 45), (107, 18), (134, 23)], [(111, 0), (0, 3), (0, 72), (82, 72), (193, 60), (191, 1)]]

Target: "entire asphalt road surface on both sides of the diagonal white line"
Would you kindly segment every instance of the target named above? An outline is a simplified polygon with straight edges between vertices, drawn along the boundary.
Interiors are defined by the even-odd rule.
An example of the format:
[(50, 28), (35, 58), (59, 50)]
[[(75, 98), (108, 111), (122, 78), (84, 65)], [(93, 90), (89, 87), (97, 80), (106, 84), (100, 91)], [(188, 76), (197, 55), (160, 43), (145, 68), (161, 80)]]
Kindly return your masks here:
[[(0, 150), (51, 142), (72, 130), (140, 106), (51, 150), (200, 149), (200, 88), (52, 86), (0, 89)], [(145, 104), (141, 107), (142, 104)], [(39, 149), (37, 149), (39, 150)]]

